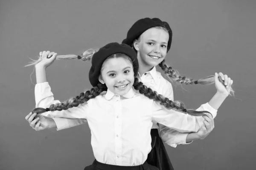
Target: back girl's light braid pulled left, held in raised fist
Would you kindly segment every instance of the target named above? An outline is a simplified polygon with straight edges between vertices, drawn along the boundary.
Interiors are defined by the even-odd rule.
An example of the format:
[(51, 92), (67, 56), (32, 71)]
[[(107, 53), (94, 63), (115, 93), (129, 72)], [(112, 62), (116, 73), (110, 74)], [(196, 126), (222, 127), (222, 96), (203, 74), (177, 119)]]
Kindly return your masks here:
[[(70, 54), (70, 55), (57, 55), (56, 56), (56, 60), (79, 59), (81, 61), (87, 61), (87, 60), (90, 61), (92, 59), (92, 57), (93, 57), (93, 54), (95, 52), (97, 52), (97, 51), (99, 51), (99, 49), (87, 49), (85, 52), (82, 53), (82, 55), (73, 55), (73, 54)], [(28, 64), (26, 66), (36, 65), (42, 59), (40, 57), (38, 57), (38, 60), (33, 60), (33, 59), (31, 59), (31, 60), (32, 60), (32, 62), (29, 62), (30, 64)]]

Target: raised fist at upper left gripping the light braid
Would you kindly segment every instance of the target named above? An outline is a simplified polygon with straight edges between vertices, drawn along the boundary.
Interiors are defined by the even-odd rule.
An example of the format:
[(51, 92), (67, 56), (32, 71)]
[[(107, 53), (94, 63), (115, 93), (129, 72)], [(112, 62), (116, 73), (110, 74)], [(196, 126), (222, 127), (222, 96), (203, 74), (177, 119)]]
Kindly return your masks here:
[(57, 53), (43, 51), (43, 52), (39, 53), (39, 56), (40, 56), (39, 60), (41, 60), (41, 61), (39, 63), (37, 63), (35, 65), (35, 67), (40, 67), (40, 68), (46, 69), (48, 66), (50, 66), (54, 62), (54, 60), (57, 56)]

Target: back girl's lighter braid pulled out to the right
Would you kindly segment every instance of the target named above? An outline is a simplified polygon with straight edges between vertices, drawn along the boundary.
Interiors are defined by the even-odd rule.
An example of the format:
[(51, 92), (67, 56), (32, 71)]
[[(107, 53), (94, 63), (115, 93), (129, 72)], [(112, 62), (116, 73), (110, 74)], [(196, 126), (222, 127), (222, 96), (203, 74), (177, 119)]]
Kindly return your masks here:
[[(215, 76), (211, 75), (205, 78), (201, 78), (198, 80), (194, 80), (192, 78), (187, 78), (187, 77), (181, 77), (180, 73), (176, 70), (173, 69), (171, 66), (168, 66), (166, 64), (166, 61), (163, 60), (159, 66), (161, 69), (164, 71), (164, 74), (171, 80), (171, 81), (177, 81), (180, 84), (204, 84), (204, 85), (209, 85), (209, 84), (214, 84), (215, 83)], [(221, 77), (218, 77), (219, 81), (224, 85), (224, 81), (221, 79)], [(230, 95), (234, 95), (234, 90), (232, 87), (230, 88)]]

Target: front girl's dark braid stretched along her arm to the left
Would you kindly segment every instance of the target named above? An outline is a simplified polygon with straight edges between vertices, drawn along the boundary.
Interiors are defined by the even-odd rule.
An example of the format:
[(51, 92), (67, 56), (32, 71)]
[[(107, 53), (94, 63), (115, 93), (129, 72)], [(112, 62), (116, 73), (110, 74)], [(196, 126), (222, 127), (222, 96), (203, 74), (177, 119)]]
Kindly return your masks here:
[(86, 92), (80, 93), (80, 95), (76, 96), (75, 98), (70, 98), (62, 103), (51, 104), (49, 108), (35, 108), (33, 109), (32, 113), (44, 113), (47, 111), (61, 111), (67, 110), (72, 107), (78, 107), (79, 104), (83, 104), (90, 100), (91, 98), (95, 98), (96, 96), (100, 95), (103, 91), (106, 91), (107, 87), (105, 84), (99, 83), (94, 88), (87, 90)]

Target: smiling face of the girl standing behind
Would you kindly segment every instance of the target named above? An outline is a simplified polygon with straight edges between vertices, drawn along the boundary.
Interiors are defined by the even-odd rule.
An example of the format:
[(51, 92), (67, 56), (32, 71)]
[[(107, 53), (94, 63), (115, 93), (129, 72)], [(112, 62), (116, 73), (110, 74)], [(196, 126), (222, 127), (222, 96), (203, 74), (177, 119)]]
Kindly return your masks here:
[(152, 68), (163, 61), (167, 53), (169, 34), (163, 29), (151, 28), (134, 41), (140, 66)]

